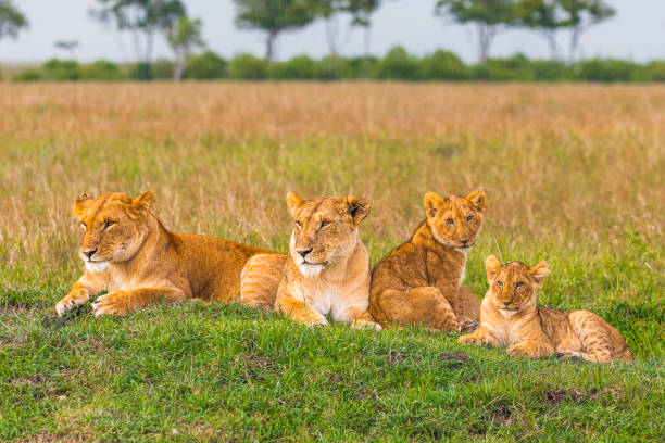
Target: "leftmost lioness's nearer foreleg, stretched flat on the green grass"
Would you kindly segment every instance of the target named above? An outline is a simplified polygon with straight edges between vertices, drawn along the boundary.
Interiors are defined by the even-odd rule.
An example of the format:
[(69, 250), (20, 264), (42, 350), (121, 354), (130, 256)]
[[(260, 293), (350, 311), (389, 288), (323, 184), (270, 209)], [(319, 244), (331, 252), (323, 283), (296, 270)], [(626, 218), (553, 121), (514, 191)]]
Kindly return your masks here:
[(156, 301), (178, 303), (184, 299), (185, 294), (179, 289), (139, 288), (131, 291), (114, 291), (97, 299), (92, 303), (92, 311), (95, 316), (124, 315)]

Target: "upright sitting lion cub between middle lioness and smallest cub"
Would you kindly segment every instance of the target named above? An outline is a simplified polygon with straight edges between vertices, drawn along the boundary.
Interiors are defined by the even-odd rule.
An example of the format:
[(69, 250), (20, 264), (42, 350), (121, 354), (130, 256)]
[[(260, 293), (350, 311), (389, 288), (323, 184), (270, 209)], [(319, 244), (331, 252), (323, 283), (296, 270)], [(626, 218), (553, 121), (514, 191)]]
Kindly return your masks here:
[(486, 197), (482, 191), (466, 198), (429, 192), (424, 202), (425, 221), (372, 270), (369, 309), (381, 326), (418, 324), (459, 331), (480, 320), (480, 301), (462, 280)]

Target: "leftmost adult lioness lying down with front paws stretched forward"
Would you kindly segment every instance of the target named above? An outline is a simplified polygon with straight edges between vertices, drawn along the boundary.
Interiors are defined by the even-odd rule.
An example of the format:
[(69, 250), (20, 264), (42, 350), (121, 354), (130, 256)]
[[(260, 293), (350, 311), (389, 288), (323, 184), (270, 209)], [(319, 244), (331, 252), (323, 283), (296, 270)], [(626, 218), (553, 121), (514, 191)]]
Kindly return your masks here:
[(244, 263), (258, 248), (190, 233), (167, 231), (151, 213), (154, 194), (136, 199), (83, 194), (74, 204), (80, 226), (83, 277), (55, 305), (63, 316), (100, 291), (95, 315), (122, 315), (156, 301), (237, 301)]

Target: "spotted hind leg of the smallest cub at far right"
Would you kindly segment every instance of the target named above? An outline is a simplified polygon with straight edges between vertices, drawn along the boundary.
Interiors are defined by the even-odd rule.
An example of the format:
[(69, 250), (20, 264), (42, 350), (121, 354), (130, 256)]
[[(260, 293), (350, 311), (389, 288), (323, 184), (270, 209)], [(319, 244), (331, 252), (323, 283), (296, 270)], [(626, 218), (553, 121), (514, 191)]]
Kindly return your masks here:
[[(572, 312), (568, 315), (568, 322), (570, 324), (573, 332), (581, 342), (582, 349), (581, 352), (562, 350), (561, 352), (564, 354), (564, 357), (578, 356), (594, 363), (606, 363), (612, 360), (613, 337), (610, 330), (612, 327), (607, 325), (605, 320), (597, 314), (580, 309)], [(622, 347), (628, 351), (623, 338), (620, 338), (620, 344), (623, 344)], [(631, 355), (629, 360), (632, 360)]]

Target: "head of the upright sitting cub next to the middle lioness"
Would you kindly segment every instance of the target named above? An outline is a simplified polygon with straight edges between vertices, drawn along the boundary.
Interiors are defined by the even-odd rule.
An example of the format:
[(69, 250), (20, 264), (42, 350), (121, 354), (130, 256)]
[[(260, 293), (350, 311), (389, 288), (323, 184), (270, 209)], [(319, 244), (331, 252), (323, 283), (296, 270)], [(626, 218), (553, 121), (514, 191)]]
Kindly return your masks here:
[(428, 192), (424, 202), (427, 225), (439, 243), (460, 251), (474, 245), (482, 225), (485, 192), (474, 191), (466, 198), (442, 198), (435, 192)]

